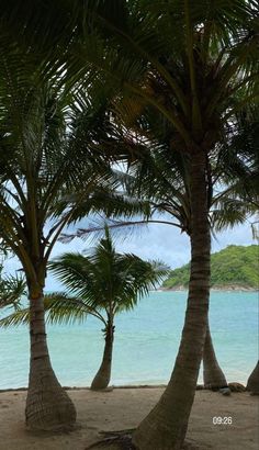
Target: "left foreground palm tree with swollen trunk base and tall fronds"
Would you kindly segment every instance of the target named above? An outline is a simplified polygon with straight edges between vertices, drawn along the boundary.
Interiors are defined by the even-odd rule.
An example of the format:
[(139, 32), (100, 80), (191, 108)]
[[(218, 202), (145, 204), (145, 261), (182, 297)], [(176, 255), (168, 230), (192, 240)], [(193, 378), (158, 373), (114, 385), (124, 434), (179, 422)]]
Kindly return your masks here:
[(31, 429), (70, 428), (76, 410), (53, 371), (46, 340), (47, 262), (86, 199), (90, 212), (100, 209), (102, 192), (113, 196), (114, 176), (89, 150), (98, 108), (88, 102), (88, 110), (80, 111), (64, 68), (2, 35), (0, 57), (0, 237), (21, 262), (30, 299), (26, 424)]

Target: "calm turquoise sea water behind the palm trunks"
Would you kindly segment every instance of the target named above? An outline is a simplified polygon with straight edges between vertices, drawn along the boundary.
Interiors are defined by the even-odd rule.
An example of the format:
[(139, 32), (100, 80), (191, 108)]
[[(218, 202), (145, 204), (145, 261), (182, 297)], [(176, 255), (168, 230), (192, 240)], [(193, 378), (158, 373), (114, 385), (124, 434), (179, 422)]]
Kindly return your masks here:
[[(185, 292), (151, 292), (116, 318), (112, 384), (166, 383), (176, 359)], [(211, 330), (228, 381), (246, 383), (258, 358), (258, 294), (211, 294)], [(102, 324), (48, 327), (54, 370), (63, 385), (89, 385), (103, 348)], [(25, 326), (0, 329), (0, 389), (27, 385), (29, 333)]]

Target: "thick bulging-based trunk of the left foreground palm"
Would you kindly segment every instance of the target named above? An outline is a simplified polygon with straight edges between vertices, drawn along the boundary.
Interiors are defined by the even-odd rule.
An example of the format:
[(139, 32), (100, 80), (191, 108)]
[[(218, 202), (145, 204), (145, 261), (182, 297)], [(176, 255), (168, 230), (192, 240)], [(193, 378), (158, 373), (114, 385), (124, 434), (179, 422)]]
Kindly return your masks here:
[(26, 425), (33, 430), (69, 429), (75, 406), (53, 371), (45, 330), (43, 293), (30, 295), (31, 361)]

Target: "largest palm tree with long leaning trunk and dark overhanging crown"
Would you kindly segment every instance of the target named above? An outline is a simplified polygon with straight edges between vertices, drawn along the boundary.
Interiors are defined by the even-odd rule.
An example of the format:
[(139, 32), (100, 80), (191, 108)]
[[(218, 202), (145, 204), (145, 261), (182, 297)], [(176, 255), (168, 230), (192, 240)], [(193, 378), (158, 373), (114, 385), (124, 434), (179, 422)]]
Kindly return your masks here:
[(145, 130), (145, 115), (160, 114), (173, 130), (171, 154), (190, 157), (185, 322), (169, 384), (134, 434), (140, 450), (179, 449), (184, 440), (207, 327), (210, 162), (218, 143), (235, 133), (236, 114), (258, 94), (257, 13), (257, 2), (246, 0), (98, 2), (89, 12), (90, 35), (71, 63), (117, 83), (112, 106), (119, 123)]

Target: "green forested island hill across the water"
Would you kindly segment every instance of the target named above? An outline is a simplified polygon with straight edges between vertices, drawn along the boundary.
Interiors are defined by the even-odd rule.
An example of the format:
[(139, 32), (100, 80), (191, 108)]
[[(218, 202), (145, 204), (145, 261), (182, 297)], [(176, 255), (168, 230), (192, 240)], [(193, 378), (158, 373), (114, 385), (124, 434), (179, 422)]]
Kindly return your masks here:
[[(212, 290), (257, 291), (259, 285), (259, 248), (257, 245), (230, 245), (212, 255)], [(174, 269), (162, 290), (185, 290), (190, 263)]]

